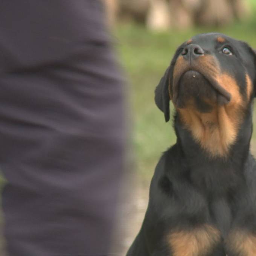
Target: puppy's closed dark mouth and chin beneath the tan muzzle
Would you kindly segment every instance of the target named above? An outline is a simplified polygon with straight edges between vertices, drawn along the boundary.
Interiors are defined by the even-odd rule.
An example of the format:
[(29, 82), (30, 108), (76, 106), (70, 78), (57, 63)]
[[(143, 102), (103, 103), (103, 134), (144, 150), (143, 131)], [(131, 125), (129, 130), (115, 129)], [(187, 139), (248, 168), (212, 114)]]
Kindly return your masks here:
[(228, 104), (231, 100), (231, 94), (212, 76), (192, 69), (185, 70), (178, 78), (174, 78), (172, 92), (173, 102), (178, 108), (185, 107), (190, 98), (201, 102), (199, 105), (202, 108), (204, 100), (219, 106)]

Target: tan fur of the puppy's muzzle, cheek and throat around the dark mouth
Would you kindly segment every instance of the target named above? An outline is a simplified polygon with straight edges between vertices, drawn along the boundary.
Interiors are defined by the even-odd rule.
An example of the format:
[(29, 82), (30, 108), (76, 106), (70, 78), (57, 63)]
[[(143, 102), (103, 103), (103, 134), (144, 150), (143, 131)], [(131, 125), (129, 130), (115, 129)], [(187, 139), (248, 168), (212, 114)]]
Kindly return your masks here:
[[(237, 138), (245, 102), (235, 79), (227, 73), (221, 73), (216, 58), (211, 55), (202, 56), (193, 65), (194, 70), (207, 73), (208, 76), (215, 79), (222, 88), (230, 93), (231, 100), (226, 105), (216, 104), (210, 113), (199, 112), (193, 101), (187, 103), (185, 108), (176, 107), (177, 111), (201, 148), (211, 157), (225, 158), (230, 146), (235, 143)], [(188, 62), (180, 56), (174, 66), (174, 83), (178, 84), (177, 80), (188, 68)], [(175, 93), (177, 93), (177, 88), (173, 88), (173, 94), (175, 95)]]

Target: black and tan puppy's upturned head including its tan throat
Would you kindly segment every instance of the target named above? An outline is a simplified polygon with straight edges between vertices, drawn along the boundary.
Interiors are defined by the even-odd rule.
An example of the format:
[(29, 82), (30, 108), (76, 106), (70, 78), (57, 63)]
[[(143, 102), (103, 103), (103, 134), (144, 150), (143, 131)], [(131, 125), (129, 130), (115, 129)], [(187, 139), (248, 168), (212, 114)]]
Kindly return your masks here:
[(214, 137), (218, 127), (222, 150), (212, 153), (224, 155), (255, 94), (255, 74), (256, 55), (247, 43), (217, 33), (196, 35), (178, 47), (155, 90), (155, 102), (167, 122), (172, 100), (205, 149), (205, 128)]

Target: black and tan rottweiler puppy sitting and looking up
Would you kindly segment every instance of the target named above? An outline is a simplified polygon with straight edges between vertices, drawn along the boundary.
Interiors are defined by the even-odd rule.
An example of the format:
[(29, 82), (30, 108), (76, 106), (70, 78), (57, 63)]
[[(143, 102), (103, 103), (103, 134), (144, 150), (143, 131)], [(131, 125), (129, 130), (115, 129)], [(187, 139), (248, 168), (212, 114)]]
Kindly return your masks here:
[(256, 54), (200, 34), (178, 47), (155, 89), (177, 142), (163, 153), (127, 256), (256, 256), (256, 162), (250, 153)]

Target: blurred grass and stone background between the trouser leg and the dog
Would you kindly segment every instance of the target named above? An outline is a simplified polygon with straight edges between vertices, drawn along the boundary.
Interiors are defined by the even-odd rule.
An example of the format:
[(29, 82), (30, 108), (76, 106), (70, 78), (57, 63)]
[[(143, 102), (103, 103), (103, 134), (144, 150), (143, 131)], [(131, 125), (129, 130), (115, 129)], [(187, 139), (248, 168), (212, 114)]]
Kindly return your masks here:
[[(172, 122), (165, 123), (154, 103), (156, 85), (177, 47), (195, 34), (220, 32), (256, 49), (256, 0), (105, 0), (105, 5), (130, 103), (134, 183), (122, 212), (126, 251), (140, 229), (155, 165), (176, 141)], [(256, 155), (256, 133), (251, 151)]]

